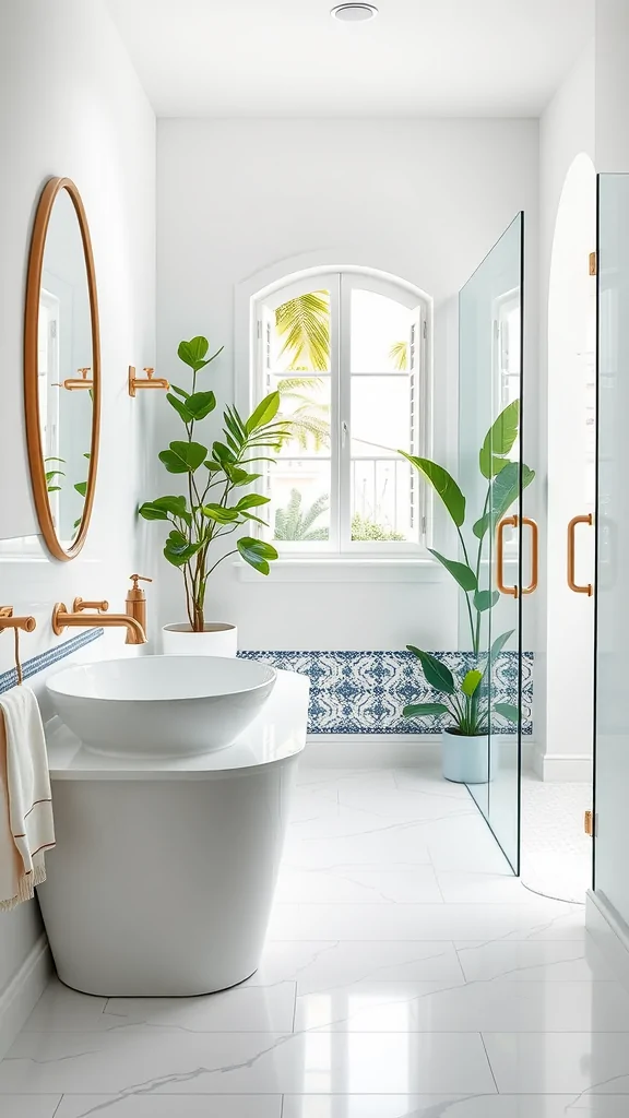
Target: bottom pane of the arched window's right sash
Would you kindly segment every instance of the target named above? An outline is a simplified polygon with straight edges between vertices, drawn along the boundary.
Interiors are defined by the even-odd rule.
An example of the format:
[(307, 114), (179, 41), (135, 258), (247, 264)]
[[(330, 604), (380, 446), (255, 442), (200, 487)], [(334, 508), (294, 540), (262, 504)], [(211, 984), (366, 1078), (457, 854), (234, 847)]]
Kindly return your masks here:
[(417, 538), (416, 473), (403, 459), (351, 463), (351, 539)]

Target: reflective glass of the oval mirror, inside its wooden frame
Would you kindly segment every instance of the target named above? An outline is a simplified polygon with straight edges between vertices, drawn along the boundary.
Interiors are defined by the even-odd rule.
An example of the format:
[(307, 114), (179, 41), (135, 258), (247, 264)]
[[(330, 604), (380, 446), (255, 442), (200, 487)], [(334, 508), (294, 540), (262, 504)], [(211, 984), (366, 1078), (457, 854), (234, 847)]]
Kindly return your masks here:
[(44, 249), (37, 378), (46, 489), (60, 542), (83, 518), (93, 419), (90, 288), (81, 228), (66, 190), (57, 195)]

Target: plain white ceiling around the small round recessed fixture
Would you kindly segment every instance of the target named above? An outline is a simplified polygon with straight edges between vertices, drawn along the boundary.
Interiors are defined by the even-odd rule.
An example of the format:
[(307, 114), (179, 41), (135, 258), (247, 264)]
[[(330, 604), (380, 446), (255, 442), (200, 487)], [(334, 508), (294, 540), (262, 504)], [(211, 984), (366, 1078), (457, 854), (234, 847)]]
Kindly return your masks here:
[(107, 0), (160, 116), (532, 116), (593, 0)]

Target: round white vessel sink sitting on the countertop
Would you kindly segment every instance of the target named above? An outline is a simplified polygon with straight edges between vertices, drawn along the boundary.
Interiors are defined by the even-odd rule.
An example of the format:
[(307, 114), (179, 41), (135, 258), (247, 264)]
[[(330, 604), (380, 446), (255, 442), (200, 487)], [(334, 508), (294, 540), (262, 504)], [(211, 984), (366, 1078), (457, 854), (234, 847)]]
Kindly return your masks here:
[(215, 656), (77, 664), (48, 693), (86, 749), (112, 757), (196, 757), (225, 749), (271, 694), (275, 669)]

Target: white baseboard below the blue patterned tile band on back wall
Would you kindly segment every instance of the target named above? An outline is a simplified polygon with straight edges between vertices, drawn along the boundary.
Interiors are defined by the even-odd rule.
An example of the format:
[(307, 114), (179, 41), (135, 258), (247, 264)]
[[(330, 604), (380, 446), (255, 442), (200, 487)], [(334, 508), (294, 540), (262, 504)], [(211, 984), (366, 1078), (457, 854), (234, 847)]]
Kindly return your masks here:
[[(523, 767), (531, 767), (532, 742), (523, 742)], [(406, 768), (439, 765), (438, 733), (310, 733), (302, 764), (321, 768)]]

